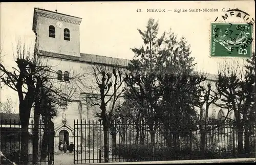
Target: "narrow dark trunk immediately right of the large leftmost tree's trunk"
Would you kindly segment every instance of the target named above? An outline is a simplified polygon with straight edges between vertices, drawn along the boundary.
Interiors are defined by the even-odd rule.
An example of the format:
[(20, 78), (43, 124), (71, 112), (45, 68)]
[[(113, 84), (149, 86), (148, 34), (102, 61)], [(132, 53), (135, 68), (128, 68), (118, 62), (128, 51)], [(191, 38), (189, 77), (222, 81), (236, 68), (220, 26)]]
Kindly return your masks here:
[(38, 162), (38, 140), (39, 140), (39, 107), (35, 106), (34, 109), (34, 128), (33, 128), (33, 164)]

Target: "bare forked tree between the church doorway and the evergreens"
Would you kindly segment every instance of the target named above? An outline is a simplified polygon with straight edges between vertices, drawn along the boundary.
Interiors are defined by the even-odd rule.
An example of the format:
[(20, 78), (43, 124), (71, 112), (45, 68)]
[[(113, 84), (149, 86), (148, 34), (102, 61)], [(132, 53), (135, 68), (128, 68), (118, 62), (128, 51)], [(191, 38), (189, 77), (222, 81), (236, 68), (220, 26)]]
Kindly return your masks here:
[[(113, 61), (112, 61), (113, 62)], [(104, 162), (109, 162), (108, 150), (108, 128), (110, 127), (109, 117), (113, 115), (116, 102), (123, 92), (123, 69), (119, 66), (118, 61), (110, 65), (96, 64), (89, 68), (87, 72), (90, 85), (84, 87), (90, 91), (86, 98), (90, 99), (91, 106), (99, 106), (100, 112), (96, 114), (102, 121), (104, 136)], [(81, 82), (86, 84), (85, 82)], [(111, 107), (108, 110), (108, 106)]]

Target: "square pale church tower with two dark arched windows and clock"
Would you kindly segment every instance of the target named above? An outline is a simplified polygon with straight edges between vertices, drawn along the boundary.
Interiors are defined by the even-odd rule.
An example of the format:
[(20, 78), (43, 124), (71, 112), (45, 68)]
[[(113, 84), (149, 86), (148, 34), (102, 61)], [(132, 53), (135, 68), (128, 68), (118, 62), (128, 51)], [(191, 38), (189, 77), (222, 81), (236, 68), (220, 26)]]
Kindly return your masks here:
[(32, 30), (36, 35), (36, 49), (80, 57), (81, 20), (79, 17), (35, 8)]

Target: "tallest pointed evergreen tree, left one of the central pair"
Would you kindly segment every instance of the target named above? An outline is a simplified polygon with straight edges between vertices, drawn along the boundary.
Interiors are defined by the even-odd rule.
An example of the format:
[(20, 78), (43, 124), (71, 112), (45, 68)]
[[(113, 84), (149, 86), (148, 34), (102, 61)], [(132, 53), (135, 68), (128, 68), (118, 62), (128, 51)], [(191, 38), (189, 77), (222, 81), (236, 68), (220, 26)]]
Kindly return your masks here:
[(157, 101), (160, 98), (157, 84), (157, 57), (160, 55), (160, 47), (165, 33), (158, 38), (158, 21), (149, 19), (146, 30), (138, 29), (143, 45), (141, 48), (133, 48), (135, 56), (128, 66), (129, 74), (126, 74), (126, 98), (137, 101), (142, 107), (141, 115), (148, 125), (151, 134), (151, 144), (155, 143), (155, 133), (158, 126)]

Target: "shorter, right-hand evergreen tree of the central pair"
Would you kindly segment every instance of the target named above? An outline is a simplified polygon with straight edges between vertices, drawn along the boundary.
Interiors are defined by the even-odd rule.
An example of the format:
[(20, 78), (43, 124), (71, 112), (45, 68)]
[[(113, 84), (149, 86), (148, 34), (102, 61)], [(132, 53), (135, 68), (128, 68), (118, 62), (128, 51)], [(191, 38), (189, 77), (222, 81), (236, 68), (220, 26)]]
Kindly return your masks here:
[(162, 115), (159, 118), (168, 146), (172, 147), (169, 142), (173, 141), (175, 149), (179, 145), (177, 140), (181, 131), (190, 129), (187, 125), (191, 125), (194, 116), (191, 99), (198, 93), (196, 87), (205, 80), (194, 72), (194, 58), (190, 57), (190, 53), (186, 39), (178, 39), (177, 34), (169, 29), (163, 38), (161, 56), (157, 58), (157, 70), (161, 72), (158, 81), (161, 86), (159, 105)]

